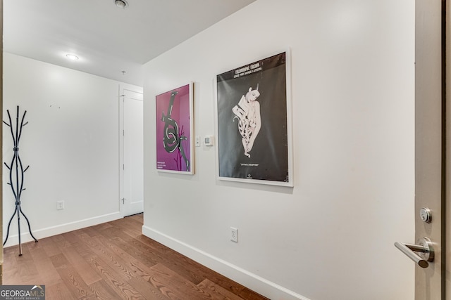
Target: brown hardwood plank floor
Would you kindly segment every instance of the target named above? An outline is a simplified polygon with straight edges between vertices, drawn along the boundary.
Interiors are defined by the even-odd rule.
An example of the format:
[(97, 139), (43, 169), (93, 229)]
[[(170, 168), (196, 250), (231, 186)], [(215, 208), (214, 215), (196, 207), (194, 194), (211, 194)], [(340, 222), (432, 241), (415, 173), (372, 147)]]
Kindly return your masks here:
[(141, 234), (142, 214), (4, 249), (4, 285), (46, 299), (267, 299)]

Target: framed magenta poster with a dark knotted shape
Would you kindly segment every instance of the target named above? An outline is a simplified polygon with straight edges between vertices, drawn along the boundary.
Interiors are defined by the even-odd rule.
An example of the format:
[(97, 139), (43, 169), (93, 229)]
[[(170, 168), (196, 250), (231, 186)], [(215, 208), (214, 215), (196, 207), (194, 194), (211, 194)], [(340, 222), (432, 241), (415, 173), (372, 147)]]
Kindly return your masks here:
[(192, 83), (155, 97), (156, 169), (194, 174)]

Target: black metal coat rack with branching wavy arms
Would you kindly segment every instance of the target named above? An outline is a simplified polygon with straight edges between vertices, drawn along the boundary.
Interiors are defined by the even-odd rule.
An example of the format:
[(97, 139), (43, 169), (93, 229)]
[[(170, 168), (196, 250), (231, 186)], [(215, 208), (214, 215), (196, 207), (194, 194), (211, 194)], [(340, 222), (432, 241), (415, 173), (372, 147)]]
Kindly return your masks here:
[(30, 230), (30, 235), (33, 237), (35, 242), (37, 242), (36, 237), (31, 232), (30, 221), (28, 221), (27, 216), (25, 216), (25, 214), (22, 211), (22, 208), (20, 207), (20, 203), (21, 203), (20, 196), (22, 195), (23, 190), (25, 190), (25, 188), (23, 188), (23, 174), (30, 167), (30, 166), (27, 166), (25, 169), (23, 169), (22, 161), (20, 160), (20, 156), (19, 156), (20, 136), (22, 135), (23, 126), (28, 124), (28, 122), (25, 122), (25, 123), (23, 122), (25, 119), (25, 115), (27, 114), (27, 111), (25, 110), (25, 112), (23, 113), (22, 119), (19, 124), (19, 107), (17, 107), (16, 128), (13, 128), (13, 122), (11, 122), (11, 115), (9, 114), (9, 110), (6, 110), (6, 112), (8, 112), (9, 123), (6, 123), (4, 121), (4, 124), (6, 124), (6, 126), (9, 126), (9, 128), (11, 129), (11, 136), (13, 136), (13, 143), (14, 143), (14, 147), (13, 147), (14, 154), (13, 154), (13, 159), (11, 160), (11, 164), (8, 165), (8, 164), (6, 164), (6, 162), (4, 162), (4, 164), (9, 169), (8, 185), (11, 185), (11, 190), (13, 190), (13, 195), (14, 195), (14, 198), (16, 199), (16, 210), (14, 211), (13, 216), (11, 216), (11, 219), (9, 219), (8, 233), (6, 233), (6, 239), (5, 239), (5, 242), (3, 243), (3, 245), (5, 245), (6, 241), (8, 240), (9, 226), (11, 226), (11, 221), (13, 221), (14, 216), (16, 216), (16, 214), (17, 214), (18, 237), (19, 237), (19, 256), (21, 256), (22, 255), (22, 243), (20, 242), (20, 214), (22, 214), (25, 217), (25, 220), (27, 220), (28, 230)]

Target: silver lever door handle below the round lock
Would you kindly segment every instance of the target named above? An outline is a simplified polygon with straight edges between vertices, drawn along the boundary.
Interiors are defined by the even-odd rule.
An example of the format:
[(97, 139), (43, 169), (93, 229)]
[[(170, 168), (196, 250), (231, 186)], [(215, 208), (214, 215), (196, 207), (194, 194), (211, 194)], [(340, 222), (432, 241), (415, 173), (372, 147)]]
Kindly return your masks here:
[[(434, 248), (431, 240), (423, 237), (417, 241), (418, 244), (405, 244), (402, 242), (395, 242), (395, 247), (400, 249), (402, 253), (406, 254), (409, 259), (412, 259), (421, 268), (427, 268), (428, 262), (434, 261)], [(416, 254), (418, 252), (419, 254)]]

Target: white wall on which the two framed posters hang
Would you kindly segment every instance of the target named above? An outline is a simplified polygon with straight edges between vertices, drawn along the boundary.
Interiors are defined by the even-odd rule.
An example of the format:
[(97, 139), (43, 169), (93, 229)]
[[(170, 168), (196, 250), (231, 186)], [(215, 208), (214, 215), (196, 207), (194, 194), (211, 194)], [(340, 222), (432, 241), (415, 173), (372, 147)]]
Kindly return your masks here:
[[(216, 74), (288, 46), (295, 188), (218, 181), (204, 146), (156, 171), (156, 94), (194, 81), (213, 134)], [(257, 0), (144, 67), (145, 235), (271, 299), (413, 299), (414, 2)]]

